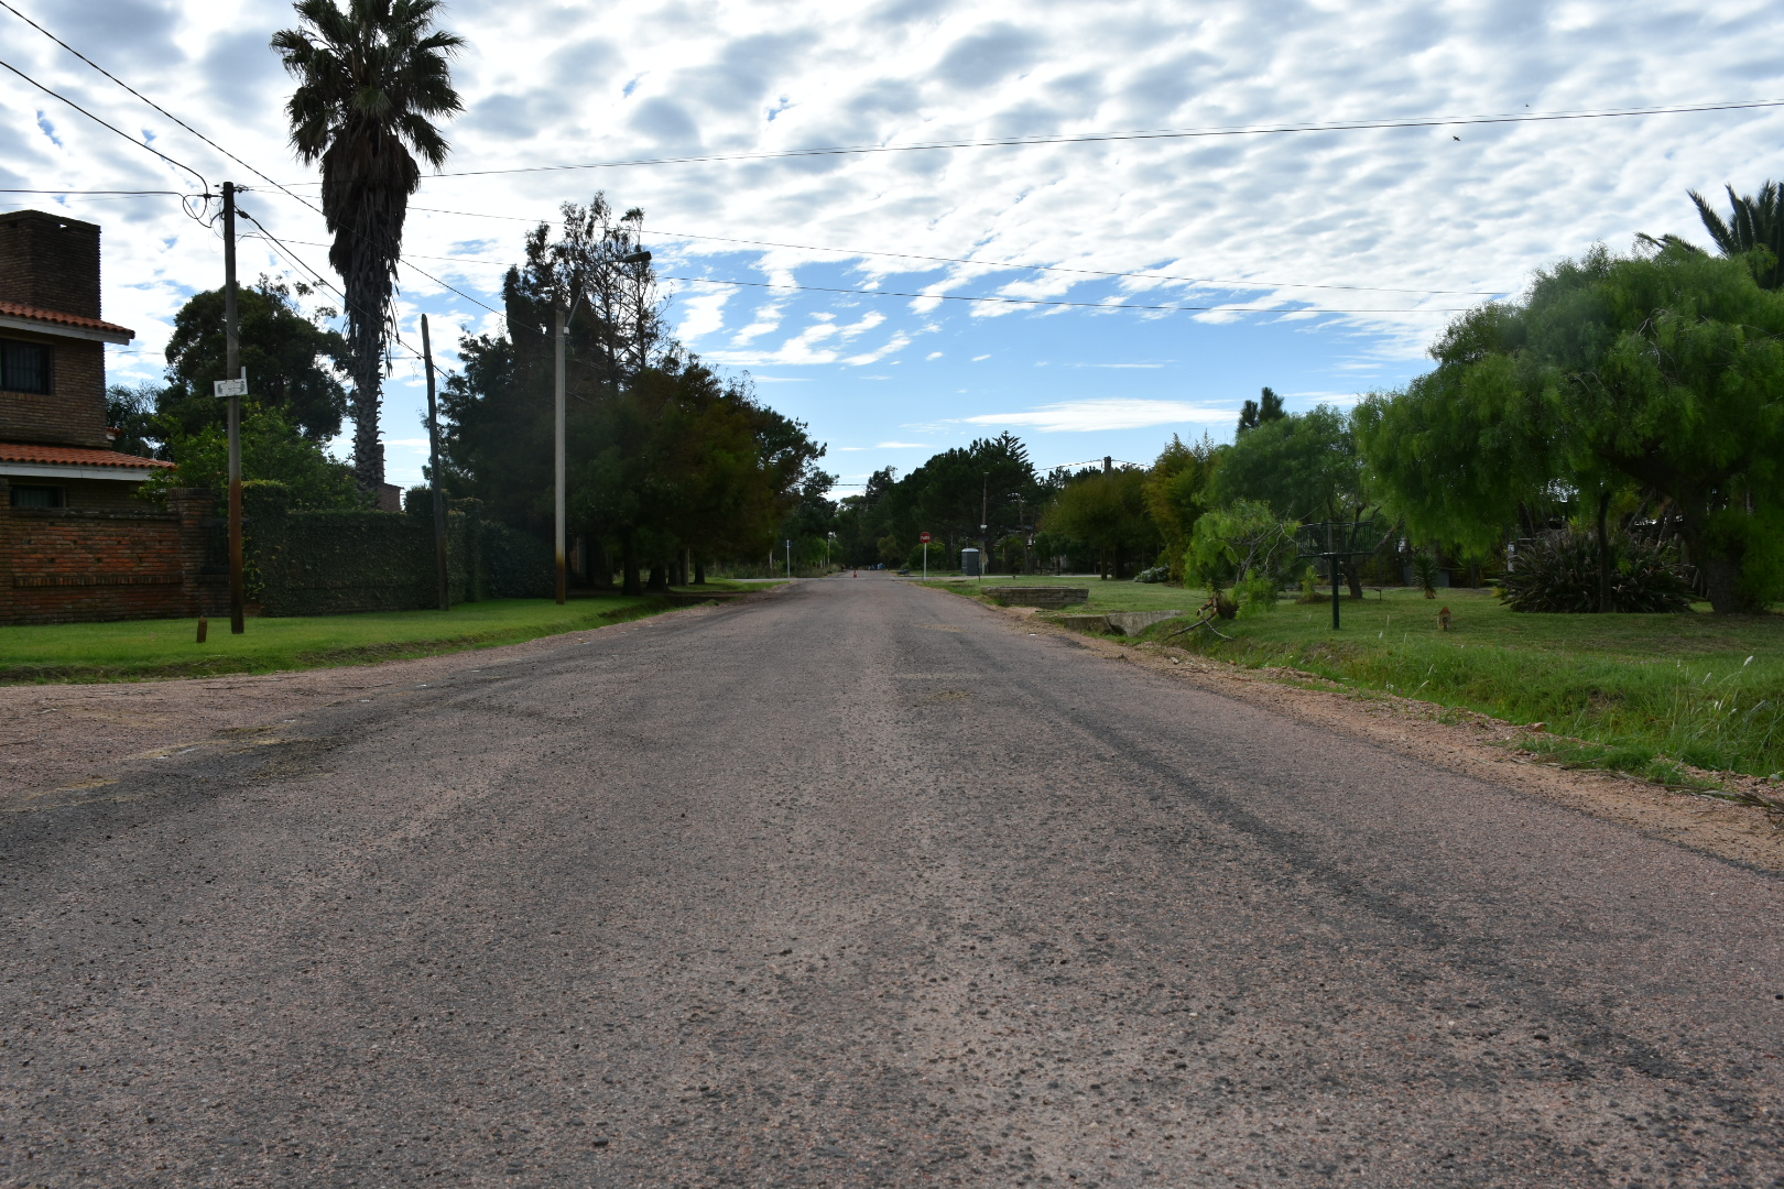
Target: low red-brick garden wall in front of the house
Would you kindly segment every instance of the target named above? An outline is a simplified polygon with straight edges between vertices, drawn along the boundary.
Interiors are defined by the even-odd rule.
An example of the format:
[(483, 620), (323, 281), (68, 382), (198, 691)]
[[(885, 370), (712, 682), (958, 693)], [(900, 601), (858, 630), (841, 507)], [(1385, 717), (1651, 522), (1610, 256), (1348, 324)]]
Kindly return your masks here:
[(209, 494), (175, 492), (169, 512), (109, 512), (11, 508), (5, 487), (0, 624), (177, 619), (216, 601), (203, 572)]

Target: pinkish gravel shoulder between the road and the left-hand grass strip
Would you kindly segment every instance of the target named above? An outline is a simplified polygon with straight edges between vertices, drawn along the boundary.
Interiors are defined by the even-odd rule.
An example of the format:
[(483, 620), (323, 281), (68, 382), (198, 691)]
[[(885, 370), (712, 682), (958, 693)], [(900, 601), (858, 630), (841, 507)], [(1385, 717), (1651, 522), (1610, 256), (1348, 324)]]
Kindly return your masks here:
[[(756, 597), (771, 597), (767, 592)], [(41, 795), (100, 783), (125, 759), (150, 759), (219, 736), (250, 736), (282, 720), (391, 686), (492, 668), (614, 631), (649, 631), (694, 606), (603, 627), (464, 652), (375, 665), (166, 681), (0, 686), (0, 813)], [(277, 734), (277, 731), (275, 731)], [(262, 740), (264, 742), (264, 740)]]

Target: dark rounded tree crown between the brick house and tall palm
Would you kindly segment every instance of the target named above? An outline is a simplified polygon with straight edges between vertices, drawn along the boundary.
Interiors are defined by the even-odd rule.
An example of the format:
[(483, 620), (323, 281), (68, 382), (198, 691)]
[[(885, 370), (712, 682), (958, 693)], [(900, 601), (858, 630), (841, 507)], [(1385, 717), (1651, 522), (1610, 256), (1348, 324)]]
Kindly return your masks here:
[[(296, 296), (310, 289), (298, 285)], [(321, 308), (303, 314), (284, 282), (262, 276), (259, 283), (235, 292), (241, 365), (248, 369), (248, 389), (255, 399), (282, 410), (285, 421), (303, 437), (326, 442), (341, 433), (346, 389), (339, 371), (348, 364), (346, 339), (328, 328), (335, 317)], [(157, 412), (171, 417), (182, 433), (223, 424), (225, 401), (211, 385), (225, 380), (223, 291), (193, 294), (173, 316), (168, 339), (168, 387)]]

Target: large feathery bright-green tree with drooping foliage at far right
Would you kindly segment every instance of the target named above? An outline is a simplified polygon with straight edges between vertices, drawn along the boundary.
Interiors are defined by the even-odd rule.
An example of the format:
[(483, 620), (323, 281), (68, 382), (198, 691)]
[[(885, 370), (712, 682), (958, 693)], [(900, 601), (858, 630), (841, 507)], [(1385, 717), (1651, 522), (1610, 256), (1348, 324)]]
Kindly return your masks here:
[(1763, 608), (1784, 590), (1784, 292), (1750, 264), (1672, 244), (1541, 271), (1525, 301), (1458, 319), (1433, 374), (1365, 401), (1372, 474), (1415, 531), (1475, 540), (1559, 492), (1602, 545), (1611, 499), (1652, 494), (1711, 606)]

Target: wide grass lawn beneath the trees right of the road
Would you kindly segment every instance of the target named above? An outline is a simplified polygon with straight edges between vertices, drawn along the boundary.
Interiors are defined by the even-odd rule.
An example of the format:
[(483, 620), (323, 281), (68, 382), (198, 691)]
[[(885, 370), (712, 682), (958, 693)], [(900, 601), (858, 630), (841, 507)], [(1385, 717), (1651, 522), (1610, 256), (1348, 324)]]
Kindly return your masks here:
[[(1094, 578), (1072, 585), (1090, 586), (1090, 606), (1070, 611), (1193, 610), (1206, 597)], [(1450, 631), (1438, 627), (1443, 606), (1454, 615)], [(1145, 638), (1177, 626), (1161, 624)], [(1329, 594), (1318, 604), (1284, 599), (1217, 626), (1233, 638), (1195, 631), (1172, 644), (1515, 724), (1541, 722), (1565, 738), (1534, 736), (1532, 747), (1663, 783), (1682, 783), (1679, 761), (1748, 775), (1784, 770), (1784, 615), (1529, 615), (1506, 610), (1486, 590), (1440, 590), (1433, 601), (1390, 588), (1384, 597), (1370, 590), (1361, 603), (1347, 597), (1336, 633)]]

